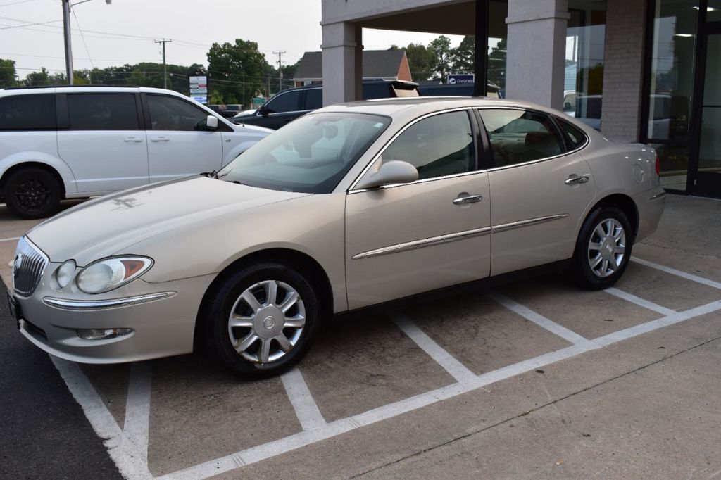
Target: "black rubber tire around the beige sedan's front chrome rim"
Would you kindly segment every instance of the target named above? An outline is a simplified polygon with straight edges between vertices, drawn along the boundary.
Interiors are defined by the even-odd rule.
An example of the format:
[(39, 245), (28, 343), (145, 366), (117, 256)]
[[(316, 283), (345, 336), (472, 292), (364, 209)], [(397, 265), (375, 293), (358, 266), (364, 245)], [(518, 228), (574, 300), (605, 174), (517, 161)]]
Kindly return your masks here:
[[(268, 363), (259, 363), (261, 359), (261, 344), (264, 340), (262, 338), (258, 339), (248, 350), (238, 352), (234, 347), (229, 330), (231, 330), (234, 335), (237, 335), (238, 338), (236, 338), (236, 340), (238, 342), (240, 342), (241, 337), (257, 334), (257, 332), (261, 332), (261, 334), (272, 334), (275, 330), (270, 329), (277, 328), (275, 321), (278, 321), (276, 320), (278, 316), (274, 315), (275, 312), (271, 312), (269, 316), (266, 317), (266, 320), (272, 318), (270, 322), (273, 323), (273, 326), (267, 326), (265, 321), (263, 321), (263, 325), (256, 323), (254, 327), (240, 326), (234, 327), (233, 329), (229, 329), (229, 319), (231, 309), (236, 306), (236, 301), (240, 303), (236, 306), (235, 313), (254, 317), (256, 319), (254, 322), (260, 321), (263, 315), (268, 314), (268, 311), (265, 310), (262, 314), (253, 316), (252, 313), (247, 310), (249, 304), (241, 301), (239, 298), (242, 293), (252, 287), (252, 285), (267, 280), (278, 282), (278, 294), (276, 298), (288, 298), (288, 291), (281, 286), (283, 283), (295, 290), (301, 299), (301, 302), (297, 303), (300, 307), (292, 307), (288, 310), (288, 314), (292, 316), (293, 312), (295, 312), (296, 316), (298, 316), (300, 312), (298, 308), (304, 308), (305, 324), (300, 332), (300, 336), (288, 352), (283, 352), (280, 342), (278, 342), (277, 339), (268, 339), (270, 349), (275, 348), (275, 350), (270, 351), (275, 351), (276, 354), (282, 352), (282, 356)], [(315, 288), (301, 273), (285, 265), (274, 262), (263, 262), (243, 268), (231, 275), (226, 275), (221, 282), (218, 282), (217, 285), (211, 288), (212, 290), (208, 291), (208, 295), (203, 302), (203, 307), (201, 307), (198, 321), (202, 322), (200, 325), (203, 328), (203, 337), (200, 340), (203, 342), (205, 352), (213, 359), (240, 377), (255, 380), (280, 375), (280, 373), (296, 365), (301, 358), (306, 355), (311, 345), (311, 340), (318, 329), (322, 308), (319, 306), (319, 299)], [(261, 288), (262, 293), (260, 290), (252, 291), (255, 292), (254, 295), (256, 299), (260, 298), (259, 303), (264, 305), (264, 309), (269, 309), (274, 305), (280, 305), (282, 303), (282, 300), (278, 302), (268, 301), (267, 288), (258, 287), (258, 289)], [(265, 303), (263, 302), (262, 295), (266, 295)], [(281, 295), (283, 295), (283, 297), (281, 297)], [(267, 306), (265, 306), (266, 304)], [(293, 308), (296, 308), (296, 310), (293, 311)], [(243, 310), (245, 310), (245, 313)], [(283, 313), (281, 312), (280, 315), (283, 315)], [(266, 331), (265, 329), (268, 330)], [(290, 331), (291, 336), (298, 332), (297, 329), (288, 327), (287, 329), (281, 328), (280, 334), (286, 337), (288, 331)], [(252, 349), (255, 347), (257, 347), (257, 351), (254, 353)], [(257, 360), (249, 360), (243, 355), (256, 355)]]

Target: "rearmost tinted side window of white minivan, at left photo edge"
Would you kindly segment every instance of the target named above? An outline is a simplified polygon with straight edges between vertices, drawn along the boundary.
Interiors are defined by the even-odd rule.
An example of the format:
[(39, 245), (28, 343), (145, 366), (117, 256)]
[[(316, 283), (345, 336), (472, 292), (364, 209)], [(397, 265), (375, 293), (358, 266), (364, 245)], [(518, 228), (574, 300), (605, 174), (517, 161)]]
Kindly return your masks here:
[(0, 99), (0, 130), (54, 130), (57, 125), (55, 94)]

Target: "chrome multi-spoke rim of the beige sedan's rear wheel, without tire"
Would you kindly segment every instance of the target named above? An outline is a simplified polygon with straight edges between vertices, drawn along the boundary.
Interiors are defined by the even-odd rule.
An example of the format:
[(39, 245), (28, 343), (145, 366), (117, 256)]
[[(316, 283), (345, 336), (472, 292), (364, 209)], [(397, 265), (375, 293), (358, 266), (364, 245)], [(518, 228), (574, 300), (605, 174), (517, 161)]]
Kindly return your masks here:
[(615, 218), (606, 218), (593, 229), (588, 241), (588, 265), (597, 277), (619, 270), (626, 254), (626, 232)]

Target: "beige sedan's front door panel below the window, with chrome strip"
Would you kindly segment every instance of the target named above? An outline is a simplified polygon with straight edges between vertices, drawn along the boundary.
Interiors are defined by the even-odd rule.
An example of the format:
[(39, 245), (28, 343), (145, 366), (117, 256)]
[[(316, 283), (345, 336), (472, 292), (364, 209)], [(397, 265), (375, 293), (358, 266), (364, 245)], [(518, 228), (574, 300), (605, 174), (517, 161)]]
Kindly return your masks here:
[[(453, 203), (470, 194), (482, 200)], [(349, 308), (489, 274), (490, 203), (484, 172), (351, 193), (345, 223)], [(438, 238), (448, 234), (459, 235)], [(395, 250), (377, 252), (385, 247)]]

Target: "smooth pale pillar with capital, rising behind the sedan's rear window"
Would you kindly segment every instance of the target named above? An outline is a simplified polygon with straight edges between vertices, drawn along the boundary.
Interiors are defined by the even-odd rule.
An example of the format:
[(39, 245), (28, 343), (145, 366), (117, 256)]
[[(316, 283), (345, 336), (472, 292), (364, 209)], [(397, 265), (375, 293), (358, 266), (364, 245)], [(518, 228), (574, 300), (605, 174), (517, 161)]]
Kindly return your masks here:
[(508, 0), (506, 97), (563, 108), (568, 0)]

